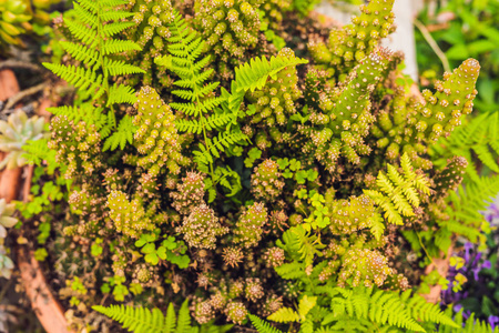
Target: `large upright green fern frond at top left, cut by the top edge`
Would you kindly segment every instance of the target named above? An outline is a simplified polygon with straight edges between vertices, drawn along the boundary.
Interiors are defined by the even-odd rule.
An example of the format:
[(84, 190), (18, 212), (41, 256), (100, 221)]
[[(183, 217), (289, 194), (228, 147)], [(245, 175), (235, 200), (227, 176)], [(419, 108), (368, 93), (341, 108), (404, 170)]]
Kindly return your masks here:
[[(78, 43), (67, 41), (61, 46), (81, 64), (43, 63), (54, 74), (73, 84), (78, 89), (80, 99), (85, 101), (79, 108), (51, 108), (50, 111), (65, 114), (74, 121), (78, 121), (80, 114), (83, 113), (85, 121), (94, 120), (89, 123), (95, 124), (103, 138), (116, 129), (114, 105), (133, 104), (135, 101), (132, 88), (123, 83), (111, 84), (110, 79), (144, 72), (143, 69), (129, 64), (115, 56), (123, 51), (140, 50), (140, 47), (133, 41), (116, 38), (120, 32), (134, 26), (133, 22), (123, 21), (132, 13), (116, 9), (118, 6), (125, 3), (126, 1), (121, 0), (74, 1), (77, 19), (65, 18), (64, 23)], [(95, 108), (98, 104), (105, 105), (105, 108)], [(125, 117), (121, 122), (118, 132), (108, 138), (104, 150), (115, 149), (119, 145), (123, 148), (126, 142), (131, 141), (133, 128), (130, 124), (130, 118)]]

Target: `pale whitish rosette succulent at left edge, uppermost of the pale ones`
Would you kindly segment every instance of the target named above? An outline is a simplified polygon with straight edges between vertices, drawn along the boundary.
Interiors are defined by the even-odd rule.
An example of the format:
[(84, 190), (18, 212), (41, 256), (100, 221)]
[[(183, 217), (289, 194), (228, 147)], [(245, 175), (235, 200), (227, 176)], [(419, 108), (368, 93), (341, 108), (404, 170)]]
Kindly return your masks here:
[(28, 115), (18, 110), (9, 115), (7, 121), (0, 120), (0, 151), (7, 157), (0, 162), (0, 169), (14, 169), (26, 163), (22, 147), (27, 141), (37, 141), (48, 135), (43, 131), (44, 120), (37, 115)]

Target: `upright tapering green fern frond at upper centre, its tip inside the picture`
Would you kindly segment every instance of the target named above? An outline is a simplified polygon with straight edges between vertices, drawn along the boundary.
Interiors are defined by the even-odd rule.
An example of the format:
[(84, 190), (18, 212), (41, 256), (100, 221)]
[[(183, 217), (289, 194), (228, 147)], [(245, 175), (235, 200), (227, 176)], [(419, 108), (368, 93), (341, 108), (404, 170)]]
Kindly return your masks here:
[[(181, 119), (176, 122), (180, 131), (203, 134), (204, 144), (200, 143), (200, 150), (194, 151), (194, 160), (200, 170), (212, 173), (214, 158), (220, 158), (220, 153), (232, 144), (245, 140), (241, 130), (231, 131), (231, 123), (234, 121), (230, 113), (217, 108), (223, 99), (214, 97), (214, 91), (218, 82), (205, 84), (206, 79), (213, 73), (213, 69), (204, 70), (210, 61), (210, 56), (197, 60), (204, 49), (204, 41), (201, 37), (190, 31), (186, 22), (180, 14), (170, 26), (172, 36), (169, 38), (169, 50), (171, 56), (157, 58), (154, 61), (173, 71), (179, 78), (174, 84), (182, 90), (173, 90), (172, 93), (187, 103), (171, 103), (172, 108), (193, 117), (192, 120)], [(204, 70), (204, 71), (203, 71)], [(203, 72), (202, 72), (203, 71)], [(223, 130), (225, 128), (225, 130)], [(207, 132), (220, 129), (218, 135), (213, 139), (207, 137)], [(210, 169), (208, 169), (210, 165)]]

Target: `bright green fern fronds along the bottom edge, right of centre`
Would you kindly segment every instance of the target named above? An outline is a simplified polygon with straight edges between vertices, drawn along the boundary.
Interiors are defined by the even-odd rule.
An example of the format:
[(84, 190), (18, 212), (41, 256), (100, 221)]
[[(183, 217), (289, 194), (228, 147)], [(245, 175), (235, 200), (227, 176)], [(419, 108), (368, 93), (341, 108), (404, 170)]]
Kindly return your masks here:
[[(370, 332), (373, 326), (381, 332), (427, 332), (424, 326), (436, 324), (442, 332), (455, 332), (460, 327), (459, 319), (455, 323), (438, 305), (411, 295), (410, 290), (399, 293), (364, 286), (352, 290), (319, 286), (316, 292), (327, 295), (323, 303), (326, 306), (330, 304), (330, 309), (318, 305), (316, 296), (305, 295), (298, 304), (298, 312), (282, 307), (268, 320), (299, 322), (299, 332), (308, 332), (306, 323), (310, 323), (312, 330), (317, 326), (324, 332)], [(279, 332), (256, 316), (251, 315), (249, 319), (258, 332)]]

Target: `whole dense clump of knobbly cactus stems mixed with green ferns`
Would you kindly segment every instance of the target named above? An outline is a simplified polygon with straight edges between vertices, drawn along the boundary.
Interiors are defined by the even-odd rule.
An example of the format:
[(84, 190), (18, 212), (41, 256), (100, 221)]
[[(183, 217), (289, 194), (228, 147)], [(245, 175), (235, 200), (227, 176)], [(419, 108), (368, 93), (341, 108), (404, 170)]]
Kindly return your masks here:
[[(488, 230), (477, 210), (496, 179), (459, 185), (475, 152), (495, 165), (495, 137), (472, 134), (490, 159), (469, 153), (466, 132), (450, 135), (471, 112), (478, 63), (466, 60), (418, 100), (401, 54), (378, 48), (394, 30), (391, 0), (371, 0), (328, 46), (288, 4), (80, 0), (74, 19), (65, 14), (72, 59), (48, 67), (78, 93), (52, 110), (53, 153), (31, 143), (27, 155), (67, 180), (35, 188), (47, 192), (42, 210), (65, 199), (61, 185), (70, 194), (53, 219), (33, 220), (52, 223), (38, 234), (60, 254), (54, 274), (68, 280), (60, 295), (71, 307), (105, 296), (173, 302), (166, 316), (98, 307), (141, 332), (184, 331), (189, 312), (266, 332), (278, 331), (248, 313), (304, 333), (456, 326), (408, 287), (457, 235), (478, 241)], [(307, 50), (302, 36), (314, 37)], [(277, 51), (278, 38), (312, 57)], [(452, 150), (428, 150), (441, 137)]]

